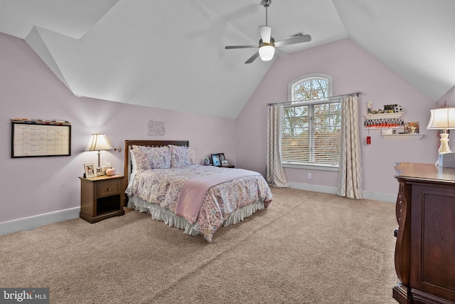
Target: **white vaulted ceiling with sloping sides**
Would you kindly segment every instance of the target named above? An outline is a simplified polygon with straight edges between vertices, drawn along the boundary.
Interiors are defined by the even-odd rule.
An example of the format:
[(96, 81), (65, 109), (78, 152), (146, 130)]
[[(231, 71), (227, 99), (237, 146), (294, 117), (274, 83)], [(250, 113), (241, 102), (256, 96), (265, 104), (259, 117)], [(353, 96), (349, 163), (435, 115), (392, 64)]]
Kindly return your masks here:
[[(23, 38), (75, 95), (235, 118), (273, 61), (244, 62), (260, 0), (0, 0), (0, 32)], [(454, 0), (272, 0), (276, 41), (350, 38), (433, 100), (455, 85)], [(374, 71), (372, 71), (374, 73)]]

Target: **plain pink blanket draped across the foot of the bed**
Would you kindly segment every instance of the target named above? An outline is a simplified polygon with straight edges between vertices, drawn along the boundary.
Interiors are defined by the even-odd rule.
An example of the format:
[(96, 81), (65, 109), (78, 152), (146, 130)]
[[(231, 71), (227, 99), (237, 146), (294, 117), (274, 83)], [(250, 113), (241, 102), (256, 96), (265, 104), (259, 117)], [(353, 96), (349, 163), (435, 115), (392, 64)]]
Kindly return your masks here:
[(178, 196), (176, 215), (183, 216), (187, 221), (193, 224), (198, 219), (200, 206), (210, 187), (222, 184), (223, 182), (232, 181), (232, 179), (252, 177), (255, 175), (260, 174), (250, 170), (236, 169), (205, 177), (188, 179), (185, 184), (183, 184), (180, 196)]

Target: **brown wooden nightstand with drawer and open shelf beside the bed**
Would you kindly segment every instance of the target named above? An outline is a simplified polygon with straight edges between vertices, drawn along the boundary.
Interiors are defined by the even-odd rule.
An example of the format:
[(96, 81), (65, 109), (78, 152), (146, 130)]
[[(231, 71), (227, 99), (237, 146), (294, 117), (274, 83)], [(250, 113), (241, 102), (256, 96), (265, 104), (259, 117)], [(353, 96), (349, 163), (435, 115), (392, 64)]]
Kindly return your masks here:
[(124, 215), (124, 176), (79, 177), (80, 218), (96, 223), (112, 216)]

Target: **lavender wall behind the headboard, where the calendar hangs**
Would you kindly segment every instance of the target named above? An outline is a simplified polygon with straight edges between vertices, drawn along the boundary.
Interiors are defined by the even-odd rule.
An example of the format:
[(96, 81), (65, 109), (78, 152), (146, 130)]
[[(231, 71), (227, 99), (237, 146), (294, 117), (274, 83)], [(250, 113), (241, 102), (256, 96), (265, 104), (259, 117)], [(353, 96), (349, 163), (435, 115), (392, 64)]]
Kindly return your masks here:
[[(156, 80), (161, 80), (159, 75)], [(235, 164), (235, 120), (77, 98), (23, 40), (2, 33), (0, 92), (0, 224), (77, 209), (77, 177), (83, 173), (83, 164), (97, 162), (96, 152), (84, 151), (95, 132), (104, 132), (113, 147), (123, 147), (126, 139), (189, 140), (200, 162), (210, 153), (224, 152)], [(71, 156), (11, 159), (14, 117), (70, 121)], [(148, 136), (149, 120), (164, 121), (166, 135)], [(124, 151), (102, 151), (101, 157), (123, 172)]]

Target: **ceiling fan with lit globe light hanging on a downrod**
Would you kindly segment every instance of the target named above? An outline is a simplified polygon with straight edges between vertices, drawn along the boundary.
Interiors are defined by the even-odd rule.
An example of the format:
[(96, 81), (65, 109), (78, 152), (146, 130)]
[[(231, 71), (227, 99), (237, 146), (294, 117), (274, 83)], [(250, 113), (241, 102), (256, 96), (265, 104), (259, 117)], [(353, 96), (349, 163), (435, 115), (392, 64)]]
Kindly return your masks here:
[(259, 39), (258, 46), (226, 46), (225, 49), (229, 50), (231, 48), (259, 48), (259, 50), (255, 53), (255, 55), (251, 56), (250, 59), (245, 61), (245, 63), (252, 63), (255, 61), (257, 57), (260, 57), (262, 61), (269, 61), (272, 60), (275, 48), (279, 46), (287, 46), (289, 44), (295, 43), (302, 43), (311, 41), (311, 36), (303, 35), (297, 36), (289, 39), (285, 39), (282, 41), (275, 42), (274, 38), (272, 37), (272, 28), (267, 26), (267, 8), (272, 3), (272, 0), (262, 0), (261, 4), (265, 7), (265, 26), (259, 26), (259, 33), (261, 35), (261, 39)]

